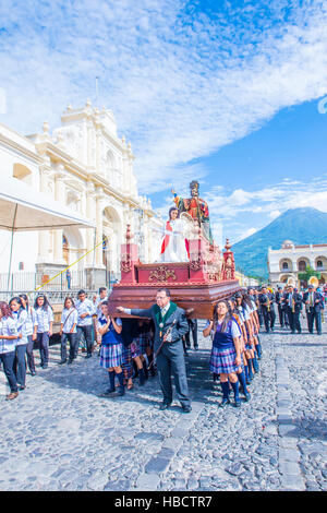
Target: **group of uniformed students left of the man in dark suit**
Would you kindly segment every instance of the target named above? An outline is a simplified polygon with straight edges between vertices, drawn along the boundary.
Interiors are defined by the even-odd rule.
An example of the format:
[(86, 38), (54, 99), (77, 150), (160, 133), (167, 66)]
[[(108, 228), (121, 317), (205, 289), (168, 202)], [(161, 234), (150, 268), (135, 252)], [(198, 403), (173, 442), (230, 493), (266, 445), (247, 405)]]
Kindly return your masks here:
[[(0, 365), (10, 386), (8, 401), (25, 389), (27, 370), (32, 377), (36, 375), (34, 349), (39, 349), (39, 367), (48, 368), (53, 322), (53, 309), (46, 295), (37, 296), (34, 305), (25, 294), (13, 297), (9, 303), (0, 301)], [(133, 389), (133, 379), (137, 378), (143, 385), (148, 377), (156, 375), (153, 324), (146, 320), (110, 318), (106, 287), (100, 287), (99, 295), (92, 299), (86, 297), (85, 290), (78, 291), (77, 300), (65, 297), (59, 334), (59, 365), (72, 365), (78, 350), (85, 353), (85, 358), (95, 354), (100, 357), (99, 363), (109, 371), (110, 383), (109, 391), (101, 395), (116, 391), (114, 379), (112, 381), (116, 374), (119, 395), (124, 394), (125, 387)]]

